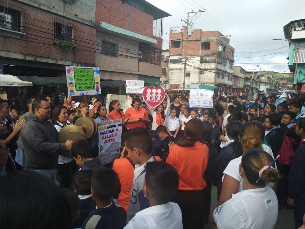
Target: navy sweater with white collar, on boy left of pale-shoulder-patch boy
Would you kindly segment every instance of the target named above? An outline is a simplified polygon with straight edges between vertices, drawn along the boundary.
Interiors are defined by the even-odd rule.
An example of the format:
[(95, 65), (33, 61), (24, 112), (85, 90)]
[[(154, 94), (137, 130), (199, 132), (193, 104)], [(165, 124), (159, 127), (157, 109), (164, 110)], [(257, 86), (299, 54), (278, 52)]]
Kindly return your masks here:
[(96, 209), (96, 203), (94, 199), (92, 198), (92, 195), (78, 195), (78, 198), (80, 199), (79, 203), (79, 211), (80, 215), (77, 220), (75, 220), (72, 228), (79, 228), (84, 223), (88, 215)]

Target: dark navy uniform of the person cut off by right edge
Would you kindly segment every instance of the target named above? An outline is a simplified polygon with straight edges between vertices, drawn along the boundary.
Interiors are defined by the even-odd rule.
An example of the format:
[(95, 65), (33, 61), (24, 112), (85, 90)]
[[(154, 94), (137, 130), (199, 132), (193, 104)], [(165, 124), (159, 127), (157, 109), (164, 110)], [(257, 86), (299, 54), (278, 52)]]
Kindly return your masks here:
[(288, 181), (288, 197), (294, 200), (294, 222), (296, 228), (303, 225), (305, 212), (305, 140), (302, 146), (296, 151), (293, 158)]

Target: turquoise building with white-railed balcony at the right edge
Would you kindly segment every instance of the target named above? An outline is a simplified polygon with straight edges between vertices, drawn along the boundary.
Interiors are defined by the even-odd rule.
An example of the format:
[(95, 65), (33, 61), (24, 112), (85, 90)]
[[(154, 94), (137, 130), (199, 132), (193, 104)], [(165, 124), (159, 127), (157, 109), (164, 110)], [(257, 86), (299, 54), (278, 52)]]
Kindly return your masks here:
[(305, 19), (286, 24), (284, 35), (289, 41), (290, 51), (287, 59), (288, 67), (293, 72), (293, 84), (297, 85), (297, 93), (305, 92)]

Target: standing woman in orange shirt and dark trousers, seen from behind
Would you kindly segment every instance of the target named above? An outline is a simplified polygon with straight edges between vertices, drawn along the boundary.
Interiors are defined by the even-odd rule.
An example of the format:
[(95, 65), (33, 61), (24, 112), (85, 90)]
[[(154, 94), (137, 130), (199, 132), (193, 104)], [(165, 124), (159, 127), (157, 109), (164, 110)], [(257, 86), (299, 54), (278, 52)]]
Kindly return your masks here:
[(209, 159), (209, 148), (199, 141), (203, 129), (198, 118), (189, 120), (184, 129), (186, 137), (170, 147), (166, 159), (179, 173), (177, 201), (184, 228), (200, 228), (203, 223), (203, 189), (206, 187), (203, 175)]

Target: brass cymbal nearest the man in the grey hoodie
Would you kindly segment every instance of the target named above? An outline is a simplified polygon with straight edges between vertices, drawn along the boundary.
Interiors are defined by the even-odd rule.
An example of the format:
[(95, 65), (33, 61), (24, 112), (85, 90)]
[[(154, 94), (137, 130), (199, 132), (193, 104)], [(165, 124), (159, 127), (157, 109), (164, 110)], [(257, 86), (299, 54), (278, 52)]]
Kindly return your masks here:
[(65, 143), (67, 140), (77, 142), (78, 140), (85, 140), (84, 131), (77, 125), (66, 125), (58, 134), (59, 143)]

